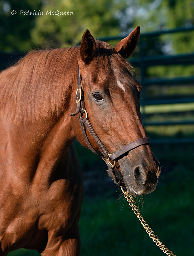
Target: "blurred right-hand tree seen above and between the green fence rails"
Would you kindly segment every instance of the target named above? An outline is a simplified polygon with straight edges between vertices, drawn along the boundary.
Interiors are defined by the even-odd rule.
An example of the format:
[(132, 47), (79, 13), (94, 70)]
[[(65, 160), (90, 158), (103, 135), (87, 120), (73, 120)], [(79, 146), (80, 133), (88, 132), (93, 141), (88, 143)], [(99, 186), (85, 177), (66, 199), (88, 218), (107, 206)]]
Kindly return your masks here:
[[(131, 0), (130, 0), (131, 1)], [(127, 19), (127, 17), (130, 19)], [(132, 26), (140, 25), (141, 32), (176, 29), (194, 26), (193, 0), (137, 0), (120, 15), (123, 28), (130, 32)], [(143, 40), (144, 56), (176, 55), (194, 52), (194, 32), (164, 34)], [(147, 75), (174, 77), (193, 75), (193, 66), (149, 67)]]

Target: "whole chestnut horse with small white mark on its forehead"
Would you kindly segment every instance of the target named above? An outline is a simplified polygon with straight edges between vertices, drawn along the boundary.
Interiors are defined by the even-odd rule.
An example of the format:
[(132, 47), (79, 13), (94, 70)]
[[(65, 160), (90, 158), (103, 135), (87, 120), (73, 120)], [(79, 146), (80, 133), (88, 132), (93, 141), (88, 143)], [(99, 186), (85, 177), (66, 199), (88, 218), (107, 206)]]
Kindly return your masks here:
[[(147, 137), (140, 115), (142, 88), (125, 60), (139, 34), (138, 26), (111, 48), (86, 30), (81, 46), (34, 50), (1, 72), (1, 256), (22, 247), (44, 256), (79, 255), (83, 173), (72, 142), (77, 138), (88, 147), (79, 122), (86, 111), (78, 108), (78, 115), (70, 114), (84, 99), (85, 121), (90, 120), (111, 154)], [(80, 99), (75, 101), (77, 91)], [(86, 134), (92, 148), (102, 153)], [(131, 194), (155, 189), (160, 164), (148, 140), (116, 163), (105, 161), (112, 164), (111, 172), (115, 164), (115, 176), (120, 173)]]

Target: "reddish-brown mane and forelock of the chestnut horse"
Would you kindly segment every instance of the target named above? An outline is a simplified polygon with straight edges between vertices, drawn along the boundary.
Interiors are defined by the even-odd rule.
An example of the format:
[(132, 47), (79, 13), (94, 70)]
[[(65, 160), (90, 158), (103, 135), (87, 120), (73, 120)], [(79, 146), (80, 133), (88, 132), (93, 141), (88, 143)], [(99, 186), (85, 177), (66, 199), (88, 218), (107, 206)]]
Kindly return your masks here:
[[(79, 46), (32, 50), (14, 66), (0, 73), (0, 111), (13, 122), (58, 118), (67, 108), (69, 93), (76, 84)], [(96, 40), (90, 68), (110, 71), (112, 60), (132, 70), (110, 45)], [(114, 64), (115, 65), (115, 64)]]

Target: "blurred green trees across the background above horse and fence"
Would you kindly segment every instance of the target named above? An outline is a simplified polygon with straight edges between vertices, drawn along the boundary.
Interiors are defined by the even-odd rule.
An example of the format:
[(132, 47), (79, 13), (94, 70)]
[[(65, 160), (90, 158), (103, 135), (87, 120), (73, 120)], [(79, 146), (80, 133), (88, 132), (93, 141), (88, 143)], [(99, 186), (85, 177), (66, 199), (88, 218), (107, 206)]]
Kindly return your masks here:
[[(11, 15), (11, 10), (17, 14)], [(43, 15), (19, 15), (40, 10)], [(46, 15), (46, 11), (73, 15)], [(77, 45), (88, 28), (94, 37), (194, 25), (193, 0), (3, 0), (0, 2), (0, 51)], [(167, 35), (144, 44), (145, 55), (175, 54), (194, 48), (194, 33)]]

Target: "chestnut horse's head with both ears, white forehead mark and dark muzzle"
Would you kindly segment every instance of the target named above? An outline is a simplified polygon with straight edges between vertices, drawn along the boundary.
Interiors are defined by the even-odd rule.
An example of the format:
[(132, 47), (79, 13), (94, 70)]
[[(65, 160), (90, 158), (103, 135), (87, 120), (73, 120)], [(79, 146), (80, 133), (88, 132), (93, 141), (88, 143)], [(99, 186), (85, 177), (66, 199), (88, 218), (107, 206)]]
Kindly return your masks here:
[[(131, 142), (147, 137), (140, 113), (142, 87), (132, 77), (132, 67), (125, 60), (133, 53), (139, 35), (138, 26), (114, 48), (94, 40), (89, 30), (85, 31), (81, 40), (78, 65), (83, 95), (79, 93), (78, 98), (84, 98), (86, 118), (111, 154)], [(75, 103), (72, 105), (75, 108)], [(74, 133), (78, 141), (88, 147), (77, 122), (77, 118), (72, 117)], [(87, 137), (91, 146), (102, 152), (90, 133), (87, 133)], [(119, 171), (131, 194), (148, 194), (156, 188), (160, 163), (148, 142), (134, 146), (115, 160), (115, 167), (112, 161), (113, 168)]]

